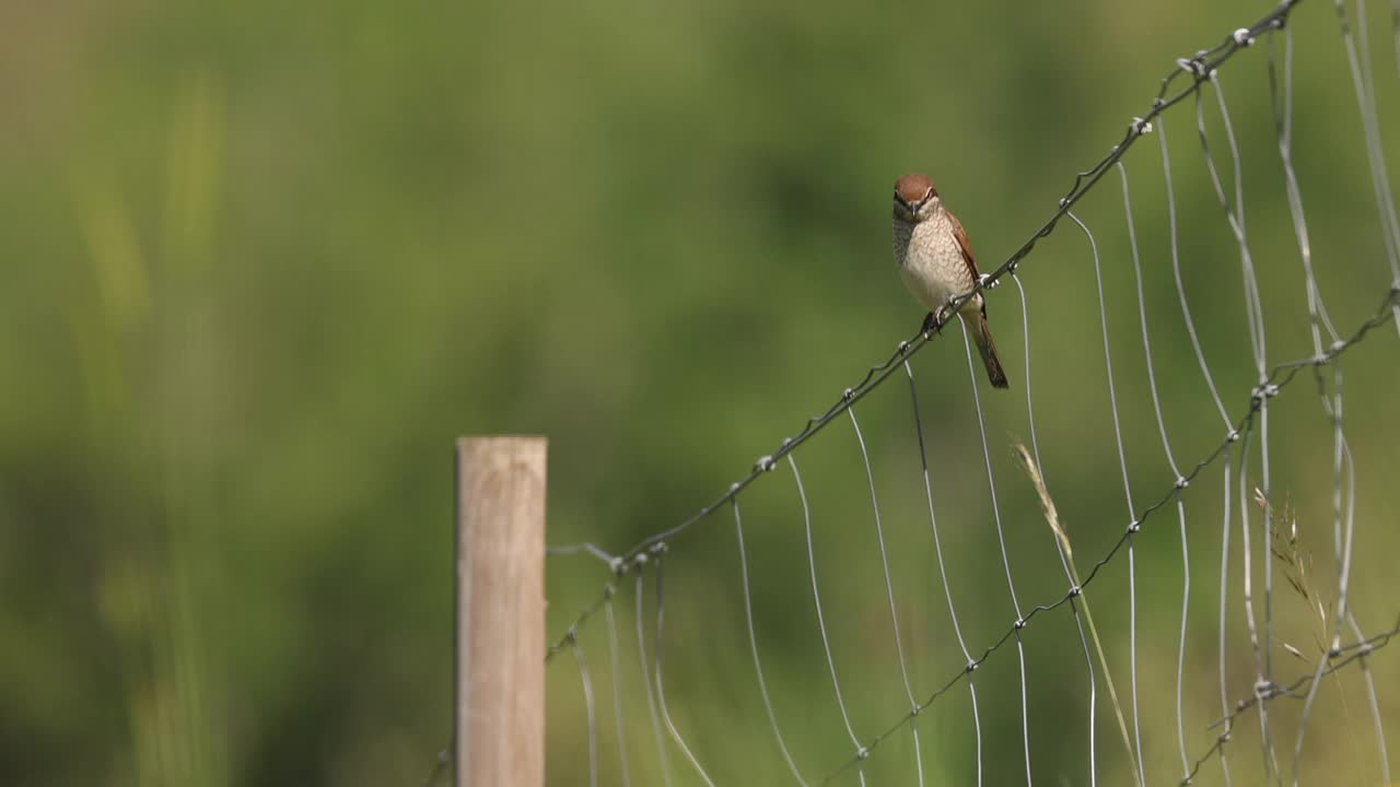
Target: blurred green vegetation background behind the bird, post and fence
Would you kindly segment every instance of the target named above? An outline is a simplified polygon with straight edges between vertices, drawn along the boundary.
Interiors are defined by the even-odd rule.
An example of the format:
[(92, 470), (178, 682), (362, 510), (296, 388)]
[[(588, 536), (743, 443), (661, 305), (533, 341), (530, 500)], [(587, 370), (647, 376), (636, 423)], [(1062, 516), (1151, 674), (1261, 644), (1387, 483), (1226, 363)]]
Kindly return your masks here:
[[(1400, 71), (1369, 8), (1383, 147), (1400, 165)], [(449, 735), (452, 440), (550, 438), (549, 541), (622, 550), (699, 508), (883, 360), (923, 312), (889, 252), (895, 176), (930, 171), (990, 270), (1074, 171), (1142, 113), (1179, 56), (1266, 3), (55, 3), (0, 7), (0, 783), (421, 784)], [(1336, 11), (1294, 15), (1294, 144), (1319, 283), (1350, 333), (1392, 280)], [(1281, 49), (1275, 50), (1275, 55)], [(1260, 270), (1270, 363), (1312, 353), (1270, 104), (1268, 52), (1221, 71)], [(1168, 113), (1182, 267), (1231, 416), (1254, 384), (1238, 246), (1190, 101)], [(1212, 94), (1205, 129), (1226, 188)], [(1156, 136), (1127, 157), (1163, 419), (1177, 464), (1224, 433), (1172, 283)], [(1392, 171), (1390, 181), (1396, 176)], [(1134, 507), (1168, 492), (1117, 172), (1078, 209), (1103, 255)], [(1063, 223), (1022, 269), (1039, 443), (1081, 567), (1128, 521), (1092, 258)], [(981, 389), (1023, 608), (1065, 578), (1011, 459), (1028, 438), (1014, 287), (990, 295), (1012, 379)], [(924, 434), (967, 647), (1015, 619), (959, 333), (918, 353)], [(1400, 490), (1394, 326), (1345, 356), (1357, 469), (1352, 604), (1394, 625)], [(979, 370), (980, 371), (980, 370)], [(965, 658), (931, 548), (906, 384), (857, 406), (871, 450), (910, 681)], [(1287, 500), (1330, 599), (1331, 431), (1306, 377), (1270, 409)], [(1259, 443), (1254, 443), (1257, 448)], [(862, 741), (909, 710), (864, 466), (848, 420), (797, 452), (833, 660)], [(1233, 469), (1239, 469), (1235, 455)], [(1261, 485), (1256, 452), (1243, 485)], [(1231, 483), (1228, 699), (1254, 679)], [(1219, 717), (1221, 466), (1183, 494), (1187, 753)], [(1256, 594), (1264, 531), (1254, 528)], [(785, 465), (741, 497), (759, 650), (808, 781), (854, 753), (816, 633)], [(1137, 668), (1148, 780), (1175, 783), (1182, 543), (1169, 506), (1137, 539)], [(790, 780), (757, 699), (727, 510), (671, 545), (666, 704), (720, 784)], [(1124, 556), (1091, 601), (1124, 711)], [(1275, 564), (1274, 669), (1319, 657), (1310, 602)], [(550, 637), (608, 578), (547, 563)], [(650, 581), (650, 576), (648, 576)], [(617, 597), (631, 784), (661, 783)], [(654, 597), (645, 601), (652, 636)], [(1324, 606), (1330, 604), (1327, 601)], [(1260, 612), (1261, 613), (1261, 612)], [(1322, 633), (1320, 633), (1322, 632)], [(1350, 634), (1347, 637), (1351, 639)], [(1302, 655), (1280, 646), (1287, 641)], [(582, 630), (601, 777), (620, 779), (608, 630)], [(650, 646), (648, 646), (650, 647)], [(1089, 780), (1089, 685), (1064, 609), (1025, 633), (1036, 780)], [(1098, 777), (1127, 783), (1099, 675)], [(550, 784), (588, 783), (580, 672), (549, 668)], [(1359, 671), (1329, 679), (1312, 783), (1376, 784)], [(1373, 660), (1400, 730), (1400, 657)], [(1023, 773), (1016, 655), (977, 674), (984, 779)], [(1292, 762), (1301, 703), (1280, 700)], [(967, 695), (918, 718), (931, 784), (976, 779)], [(1257, 721), (1228, 748), (1259, 783)], [(675, 784), (699, 783), (668, 751)], [(865, 763), (914, 783), (907, 731)], [(854, 772), (841, 783), (854, 784)], [(1197, 783), (1219, 783), (1217, 763)]]

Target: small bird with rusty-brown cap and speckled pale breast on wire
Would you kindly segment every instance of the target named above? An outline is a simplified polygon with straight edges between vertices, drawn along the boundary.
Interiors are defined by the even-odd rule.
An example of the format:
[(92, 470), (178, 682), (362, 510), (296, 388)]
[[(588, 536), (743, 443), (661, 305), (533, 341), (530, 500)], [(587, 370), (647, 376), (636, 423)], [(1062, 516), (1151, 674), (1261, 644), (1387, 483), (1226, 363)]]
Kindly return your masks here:
[[(924, 318), (925, 330), (946, 315), (949, 298), (972, 290), (981, 279), (967, 232), (944, 206), (932, 179), (923, 172), (910, 172), (895, 181), (895, 262), (904, 287), (930, 309)], [(993, 388), (1007, 388), (1007, 372), (1001, 368), (997, 343), (987, 326), (987, 304), (981, 293), (963, 301), (958, 312), (972, 330)]]

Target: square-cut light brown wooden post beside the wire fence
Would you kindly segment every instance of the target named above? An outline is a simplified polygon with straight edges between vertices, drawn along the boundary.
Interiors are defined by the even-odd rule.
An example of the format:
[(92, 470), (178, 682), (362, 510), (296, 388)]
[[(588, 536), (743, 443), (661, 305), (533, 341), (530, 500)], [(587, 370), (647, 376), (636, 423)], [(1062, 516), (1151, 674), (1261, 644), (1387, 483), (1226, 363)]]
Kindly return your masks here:
[(546, 445), (456, 443), (456, 787), (545, 784)]

